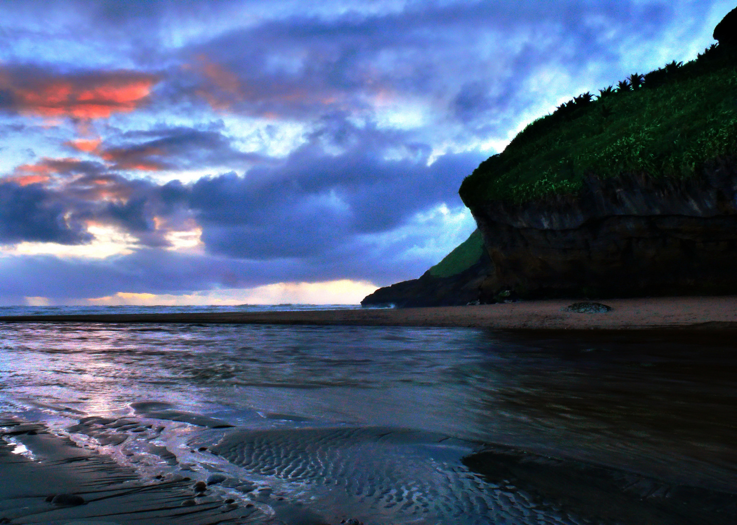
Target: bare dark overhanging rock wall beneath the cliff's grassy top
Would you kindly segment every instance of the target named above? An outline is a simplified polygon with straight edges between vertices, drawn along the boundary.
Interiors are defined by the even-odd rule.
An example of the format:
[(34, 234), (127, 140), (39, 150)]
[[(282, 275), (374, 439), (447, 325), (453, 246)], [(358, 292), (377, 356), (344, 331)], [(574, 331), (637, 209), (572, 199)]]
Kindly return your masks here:
[(737, 293), (737, 156), (686, 180), (587, 177), (577, 195), (472, 209), (495, 271), (481, 301)]

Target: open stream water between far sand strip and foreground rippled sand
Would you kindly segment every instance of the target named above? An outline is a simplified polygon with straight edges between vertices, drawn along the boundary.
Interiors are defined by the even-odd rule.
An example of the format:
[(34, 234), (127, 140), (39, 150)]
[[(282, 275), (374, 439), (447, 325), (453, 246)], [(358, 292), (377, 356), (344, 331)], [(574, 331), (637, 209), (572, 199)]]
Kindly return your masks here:
[[(731, 334), (0, 325), (0, 396), (88, 414), (135, 401), (250, 426), (405, 426), (733, 487)], [(290, 419), (291, 418), (291, 419)]]

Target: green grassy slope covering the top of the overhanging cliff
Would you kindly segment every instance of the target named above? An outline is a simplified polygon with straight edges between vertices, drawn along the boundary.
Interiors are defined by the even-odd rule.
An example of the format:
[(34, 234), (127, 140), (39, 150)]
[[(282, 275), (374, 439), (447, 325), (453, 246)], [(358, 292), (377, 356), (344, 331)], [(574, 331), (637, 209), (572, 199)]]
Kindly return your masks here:
[(633, 74), (528, 124), (483, 161), (458, 193), (469, 208), (576, 194), (584, 175), (690, 177), (737, 153), (737, 53), (712, 46), (696, 60)]

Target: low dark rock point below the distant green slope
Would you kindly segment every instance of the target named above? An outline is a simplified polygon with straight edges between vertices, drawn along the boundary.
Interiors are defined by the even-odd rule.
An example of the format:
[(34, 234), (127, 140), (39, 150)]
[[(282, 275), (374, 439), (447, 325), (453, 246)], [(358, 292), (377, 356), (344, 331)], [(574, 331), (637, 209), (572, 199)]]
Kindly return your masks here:
[(435, 277), (427, 270), (419, 279), (385, 286), (366, 296), (361, 306), (464, 306), (479, 300), (481, 283), (494, 271), (487, 253), (471, 267), (450, 277)]

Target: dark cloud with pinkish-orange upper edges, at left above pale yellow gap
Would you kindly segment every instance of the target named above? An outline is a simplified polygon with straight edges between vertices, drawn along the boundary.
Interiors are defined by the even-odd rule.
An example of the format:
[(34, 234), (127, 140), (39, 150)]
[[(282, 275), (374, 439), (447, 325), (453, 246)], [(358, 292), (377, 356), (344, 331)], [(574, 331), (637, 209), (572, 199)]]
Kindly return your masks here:
[(188, 190), (174, 181), (163, 186), (108, 172), (101, 163), (43, 159), (19, 166), (0, 179), (0, 244), (91, 241), (91, 224), (116, 225), (147, 246), (166, 245), (167, 219), (176, 229), (189, 218)]

